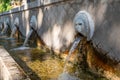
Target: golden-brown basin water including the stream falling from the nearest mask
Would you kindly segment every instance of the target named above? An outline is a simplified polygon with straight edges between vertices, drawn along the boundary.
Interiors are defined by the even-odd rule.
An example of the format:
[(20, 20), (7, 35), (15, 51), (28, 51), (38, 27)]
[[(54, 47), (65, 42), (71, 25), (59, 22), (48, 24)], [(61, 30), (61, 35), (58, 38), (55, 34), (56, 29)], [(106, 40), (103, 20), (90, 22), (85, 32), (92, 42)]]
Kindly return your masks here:
[[(66, 60), (53, 57), (50, 50), (34, 48), (34, 45), (31, 45), (32, 48), (30, 49), (11, 50), (23, 45), (23, 41), (19, 42), (16, 39), (6, 38), (7, 36), (0, 36), (0, 46), (5, 47), (31, 80), (80, 80), (81, 78), (83, 80), (94, 80), (96, 78), (89, 73), (82, 72), (82, 70), (78, 71), (75, 65), (68, 63), (70, 55), (81, 40), (80, 38), (75, 39)], [(107, 80), (104, 78), (96, 79)]]

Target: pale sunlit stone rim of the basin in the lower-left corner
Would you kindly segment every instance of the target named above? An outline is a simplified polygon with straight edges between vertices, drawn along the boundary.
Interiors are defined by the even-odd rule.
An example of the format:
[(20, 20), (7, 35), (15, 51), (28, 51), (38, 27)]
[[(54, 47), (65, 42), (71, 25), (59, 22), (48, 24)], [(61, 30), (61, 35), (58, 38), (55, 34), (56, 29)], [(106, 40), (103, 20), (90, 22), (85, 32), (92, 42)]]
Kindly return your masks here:
[(3, 47), (0, 47), (0, 80), (30, 80)]

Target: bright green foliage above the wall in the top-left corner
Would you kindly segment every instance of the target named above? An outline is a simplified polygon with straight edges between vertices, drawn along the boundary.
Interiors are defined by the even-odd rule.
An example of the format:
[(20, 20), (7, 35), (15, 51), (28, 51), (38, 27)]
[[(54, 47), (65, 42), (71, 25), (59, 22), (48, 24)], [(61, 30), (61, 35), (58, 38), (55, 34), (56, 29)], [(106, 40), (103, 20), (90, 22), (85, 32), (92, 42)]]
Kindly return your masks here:
[(10, 0), (0, 0), (0, 13), (11, 9)]

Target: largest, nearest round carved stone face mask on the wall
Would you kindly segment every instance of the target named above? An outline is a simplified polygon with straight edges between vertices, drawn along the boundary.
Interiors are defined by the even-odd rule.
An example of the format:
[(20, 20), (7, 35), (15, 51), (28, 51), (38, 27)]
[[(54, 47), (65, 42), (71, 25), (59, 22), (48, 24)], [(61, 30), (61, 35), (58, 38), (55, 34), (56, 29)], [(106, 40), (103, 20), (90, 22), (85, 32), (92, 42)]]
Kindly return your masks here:
[(75, 30), (87, 37), (89, 41), (94, 34), (94, 22), (86, 11), (79, 11), (74, 18)]

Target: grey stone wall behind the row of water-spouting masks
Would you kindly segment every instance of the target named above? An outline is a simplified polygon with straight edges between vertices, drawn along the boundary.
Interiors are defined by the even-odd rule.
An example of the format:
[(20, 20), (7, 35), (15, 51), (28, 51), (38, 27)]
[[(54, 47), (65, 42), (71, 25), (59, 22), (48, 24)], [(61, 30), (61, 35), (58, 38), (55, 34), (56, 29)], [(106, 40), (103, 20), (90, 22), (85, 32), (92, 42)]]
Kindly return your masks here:
[(112, 59), (120, 60), (119, 40), (119, 0), (37, 0), (0, 14), (0, 20), (16, 17), (20, 20), (19, 29), (26, 36), (32, 15), (37, 18), (37, 34), (51, 49), (64, 51), (73, 42), (75, 30), (73, 19), (80, 10), (87, 11), (95, 22), (92, 38), (94, 47), (107, 53)]

